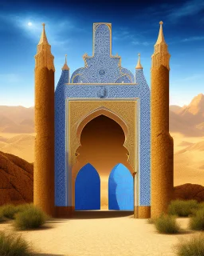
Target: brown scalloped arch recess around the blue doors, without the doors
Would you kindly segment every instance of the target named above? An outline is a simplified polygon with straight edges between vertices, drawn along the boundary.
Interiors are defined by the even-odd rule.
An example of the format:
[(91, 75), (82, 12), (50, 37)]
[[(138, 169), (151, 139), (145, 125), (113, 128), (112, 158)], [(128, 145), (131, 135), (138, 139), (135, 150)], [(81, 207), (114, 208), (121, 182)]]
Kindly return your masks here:
[[(90, 163), (100, 175), (101, 206), (108, 210), (108, 178), (112, 168), (118, 162), (121, 162), (131, 173), (134, 171), (128, 162), (128, 150), (124, 147), (125, 135), (128, 134), (128, 129), (119, 117), (114, 116), (107, 110), (98, 110), (97, 113), (94, 112), (88, 115), (86, 121), (84, 119), (77, 129), (80, 146), (76, 151), (77, 162), (73, 166), (73, 202), (76, 202), (75, 184), (77, 174), (83, 166)], [(103, 209), (103, 207), (101, 208)]]

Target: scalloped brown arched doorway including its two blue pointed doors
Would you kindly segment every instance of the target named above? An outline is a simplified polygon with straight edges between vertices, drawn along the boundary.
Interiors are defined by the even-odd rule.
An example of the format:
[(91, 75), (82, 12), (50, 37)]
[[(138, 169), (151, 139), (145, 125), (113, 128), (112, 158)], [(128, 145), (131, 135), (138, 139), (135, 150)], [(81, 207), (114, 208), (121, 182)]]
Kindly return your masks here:
[[(75, 210), (99, 210), (98, 203), (95, 202), (96, 206), (91, 206), (86, 200), (82, 202), (82, 207), (79, 206), (82, 198), (87, 198), (86, 195), (89, 194), (90, 202), (92, 202), (93, 197), (98, 198), (99, 193), (96, 183), (100, 180), (100, 209), (101, 210), (133, 210), (133, 178), (131, 174), (134, 172), (132, 166), (128, 162), (129, 152), (124, 146), (125, 140), (128, 136), (128, 128), (126, 124), (117, 115), (113, 114), (108, 110), (97, 110), (92, 114), (89, 114), (84, 118), (78, 128), (77, 136), (79, 138), (80, 146), (76, 150), (77, 162), (73, 166), (73, 201), (75, 203)], [(120, 178), (114, 180), (113, 174), (114, 169), (120, 163)], [(94, 170), (100, 176), (95, 182), (93, 179), (88, 179), (88, 175), (84, 174), (84, 178), (80, 179), (79, 175), (83, 172), (84, 168), (89, 166), (89, 174), (94, 174)], [(121, 169), (122, 166), (122, 169)], [(114, 168), (115, 167), (115, 168)], [(88, 168), (88, 167), (87, 167)], [(116, 175), (118, 171), (115, 170)], [(93, 171), (93, 173), (92, 173)], [(128, 174), (127, 174), (128, 171)], [(115, 176), (116, 176), (115, 175)], [(129, 178), (130, 187), (124, 186), (123, 179)], [(83, 175), (80, 175), (81, 177)], [(114, 177), (115, 177), (114, 176)], [(130, 178), (131, 177), (131, 178)], [(111, 182), (110, 182), (111, 181)], [(113, 184), (113, 182), (115, 184)], [(117, 183), (117, 184), (116, 184)], [(112, 186), (117, 186), (115, 190), (115, 201), (118, 200), (120, 207), (113, 206), (112, 202)], [(81, 188), (84, 188), (83, 192)], [(90, 191), (96, 189), (96, 194), (90, 194)], [(81, 194), (80, 194), (81, 193)], [(122, 194), (124, 193), (124, 196)], [(125, 198), (127, 197), (127, 198)], [(123, 199), (124, 198), (124, 199)], [(108, 202), (109, 199), (109, 202)], [(97, 199), (98, 200), (98, 199)], [(96, 201), (97, 201), (96, 200)], [(122, 201), (123, 202), (122, 202)], [(129, 203), (128, 207), (123, 205), (127, 201)], [(122, 205), (121, 205), (122, 203)], [(113, 206), (113, 208), (112, 208)], [(97, 208), (97, 209), (96, 209)]]

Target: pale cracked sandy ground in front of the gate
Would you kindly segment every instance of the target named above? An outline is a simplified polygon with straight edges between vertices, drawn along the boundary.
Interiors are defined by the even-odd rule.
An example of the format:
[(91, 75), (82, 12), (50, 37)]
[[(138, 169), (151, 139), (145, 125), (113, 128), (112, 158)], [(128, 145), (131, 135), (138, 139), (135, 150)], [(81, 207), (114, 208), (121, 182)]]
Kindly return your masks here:
[[(173, 256), (181, 239), (198, 234), (187, 230), (188, 218), (177, 219), (185, 229), (182, 234), (170, 235), (158, 234), (147, 219), (134, 219), (125, 213), (83, 214), (80, 212), (73, 219), (53, 219), (41, 230), (18, 233), (41, 256)], [(3, 223), (0, 230), (14, 229), (10, 223)]]

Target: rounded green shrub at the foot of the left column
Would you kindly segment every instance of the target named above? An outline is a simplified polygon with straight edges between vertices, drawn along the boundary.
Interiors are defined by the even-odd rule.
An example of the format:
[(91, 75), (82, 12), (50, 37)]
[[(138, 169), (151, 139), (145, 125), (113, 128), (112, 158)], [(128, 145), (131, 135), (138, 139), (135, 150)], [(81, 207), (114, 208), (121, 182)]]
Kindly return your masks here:
[(35, 206), (29, 206), (16, 214), (14, 226), (18, 230), (30, 230), (42, 226), (48, 216)]

